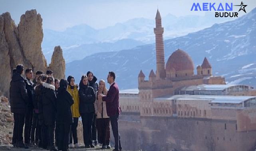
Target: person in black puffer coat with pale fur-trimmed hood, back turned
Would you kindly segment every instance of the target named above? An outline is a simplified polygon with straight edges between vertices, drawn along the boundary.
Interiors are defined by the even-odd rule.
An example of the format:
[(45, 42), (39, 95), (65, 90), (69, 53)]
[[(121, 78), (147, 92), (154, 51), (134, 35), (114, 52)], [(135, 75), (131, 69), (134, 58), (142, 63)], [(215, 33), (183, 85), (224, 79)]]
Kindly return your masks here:
[(42, 107), (44, 115), (44, 124), (48, 128), (48, 147), (50, 151), (57, 151), (54, 146), (54, 129), (56, 121), (56, 95), (54, 93), (54, 78), (48, 77), (43, 84), (42, 89)]

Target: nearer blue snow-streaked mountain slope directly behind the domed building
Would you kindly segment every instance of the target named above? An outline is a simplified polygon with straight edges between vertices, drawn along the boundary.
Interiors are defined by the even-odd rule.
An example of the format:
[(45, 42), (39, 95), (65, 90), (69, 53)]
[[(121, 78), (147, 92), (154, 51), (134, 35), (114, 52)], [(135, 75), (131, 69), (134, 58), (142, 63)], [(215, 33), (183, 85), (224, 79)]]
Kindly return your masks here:
[[(153, 30), (153, 26), (152, 26)], [(256, 86), (256, 8), (250, 13), (225, 23), (165, 40), (165, 61), (178, 48), (186, 51), (194, 66), (202, 64), (206, 56), (214, 75), (223, 75), (227, 83)], [(91, 70), (98, 79), (106, 79), (111, 70), (117, 74), (121, 89), (136, 88), (140, 70), (146, 75), (156, 69), (155, 44), (137, 46), (119, 52), (101, 52), (83, 60), (66, 64), (66, 75), (80, 79)], [(196, 73), (196, 71), (194, 72)]]

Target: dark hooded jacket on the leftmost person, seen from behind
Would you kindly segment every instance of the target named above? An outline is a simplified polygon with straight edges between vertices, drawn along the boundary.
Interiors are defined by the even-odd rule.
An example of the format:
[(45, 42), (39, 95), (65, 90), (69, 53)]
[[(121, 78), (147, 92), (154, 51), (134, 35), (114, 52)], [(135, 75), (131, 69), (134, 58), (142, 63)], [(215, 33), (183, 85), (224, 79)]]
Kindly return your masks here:
[(11, 112), (25, 114), (28, 108), (28, 93), (24, 78), (15, 72), (10, 85)]

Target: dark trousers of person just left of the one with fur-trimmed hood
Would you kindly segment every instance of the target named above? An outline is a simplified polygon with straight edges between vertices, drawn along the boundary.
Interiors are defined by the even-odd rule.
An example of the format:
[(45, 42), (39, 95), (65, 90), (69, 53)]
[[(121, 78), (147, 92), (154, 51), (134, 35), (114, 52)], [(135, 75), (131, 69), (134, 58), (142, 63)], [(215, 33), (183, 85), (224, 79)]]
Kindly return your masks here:
[(37, 143), (41, 139), (41, 126), (38, 121), (38, 114), (33, 112), (32, 128), (31, 128), (31, 143)]

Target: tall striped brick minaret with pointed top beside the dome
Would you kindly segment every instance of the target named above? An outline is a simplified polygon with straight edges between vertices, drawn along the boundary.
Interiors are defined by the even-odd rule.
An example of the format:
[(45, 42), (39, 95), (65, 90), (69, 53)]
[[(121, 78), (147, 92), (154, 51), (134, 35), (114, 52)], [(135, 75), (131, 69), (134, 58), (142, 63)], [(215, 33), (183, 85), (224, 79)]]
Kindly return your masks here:
[(163, 32), (161, 15), (157, 9), (157, 15), (155, 17), (156, 27), (154, 28), (155, 40), (156, 40), (156, 56), (157, 56), (157, 79), (165, 79), (165, 51), (163, 42)]

